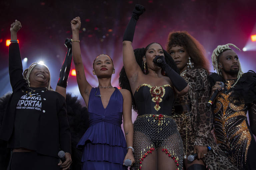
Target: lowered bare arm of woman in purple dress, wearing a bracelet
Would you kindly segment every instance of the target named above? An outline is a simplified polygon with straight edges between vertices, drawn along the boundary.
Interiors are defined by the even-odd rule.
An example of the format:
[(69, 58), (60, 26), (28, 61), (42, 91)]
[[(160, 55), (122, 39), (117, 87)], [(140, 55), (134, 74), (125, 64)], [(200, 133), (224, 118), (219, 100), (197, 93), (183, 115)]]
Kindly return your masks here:
[[(126, 138), (127, 147), (133, 147), (133, 124), (132, 124), (132, 97), (130, 91), (126, 89), (120, 89), (123, 95), (123, 118), (124, 118), (124, 133)], [(130, 159), (132, 164), (135, 162), (132, 149), (127, 150), (127, 154), (124, 158)]]

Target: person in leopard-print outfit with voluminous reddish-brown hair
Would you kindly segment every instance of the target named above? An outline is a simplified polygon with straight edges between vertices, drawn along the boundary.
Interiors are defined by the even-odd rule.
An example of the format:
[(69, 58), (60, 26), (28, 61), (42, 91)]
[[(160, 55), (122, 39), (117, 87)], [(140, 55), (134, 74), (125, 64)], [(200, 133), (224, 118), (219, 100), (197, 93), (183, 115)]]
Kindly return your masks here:
[[(233, 169), (211, 133), (213, 114), (207, 107), (211, 92), (208, 81), (209, 62), (204, 57), (203, 46), (187, 32), (171, 32), (166, 50), (190, 86), (187, 94), (175, 99), (173, 111), (184, 144), (186, 169), (205, 170), (206, 166), (210, 169)], [(207, 146), (212, 151), (207, 152)], [(198, 159), (189, 162), (187, 157), (193, 153), (198, 154)]]

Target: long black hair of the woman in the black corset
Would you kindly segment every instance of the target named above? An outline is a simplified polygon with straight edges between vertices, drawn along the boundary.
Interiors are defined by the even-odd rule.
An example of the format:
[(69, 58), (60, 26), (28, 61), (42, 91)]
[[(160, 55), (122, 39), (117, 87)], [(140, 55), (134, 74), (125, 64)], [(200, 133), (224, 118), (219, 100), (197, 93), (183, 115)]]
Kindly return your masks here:
[[(143, 56), (145, 56), (146, 54), (146, 51), (148, 50), (149, 46), (154, 44), (154, 43), (157, 43), (157, 42), (152, 42), (150, 44), (148, 44), (145, 48), (137, 48), (134, 50), (134, 55), (135, 55), (135, 58), (136, 58), (136, 61), (137, 63), (139, 64), (141, 70), (143, 71), (144, 70), (144, 64), (143, 64)], [(157, 43), (159, 44), (159, 43)], [(159, 44), (161, 47), (162, 45)], [(163, 49), (163, 47), (162, 47)], [(179, 73), (179, 69), (177, 68), (174, 60), (172, 59), (172, 57), (170, 56), (170, 54), (168, 54), (164, 49), (164, 56), (165, 56), (165, 61), (166, 63), (174, 70), (176, 71), (177, 73)], [(147, 63), (146, 63), (146, 69), (147, 69)], [(137, 112), (137, 107), (136, 107), (136, 104), (135, 104), (135, 100), (134, 100), (134, 97), (133, 97), (133, 94), (132, 94), (132, 90), (131, 90), (131, 86), (130, 86), (130, 83), (129, 83), (129, 80), (126, 76), (126, 73), (125, 73), (125, 70), (124, 70), (124, 66), (123, 68), (121, 69), (120, 73), (119, 73), (119, 86), (122, 88), (122, 89), (127, 89), (130, 91), (131, 95), (132, 95), (132, 109)]]

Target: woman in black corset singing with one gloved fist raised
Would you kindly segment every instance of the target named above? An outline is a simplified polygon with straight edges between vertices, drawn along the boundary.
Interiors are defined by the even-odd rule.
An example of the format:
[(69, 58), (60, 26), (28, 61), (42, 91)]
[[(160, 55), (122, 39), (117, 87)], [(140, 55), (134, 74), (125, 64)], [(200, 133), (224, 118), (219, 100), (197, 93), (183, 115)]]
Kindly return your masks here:
[(171, 118), (172, 103), (175, 94), (184, 95), (189, 87), (159, 43), (133, 50), (135, 26), (144, 11), (143, 6), (136, 5), (125, 30), (124, 67), (119, 77), (120, 87), (131, 92), (133, 109), (138, 112), (133, 124), (135, 163), (130, 169), (181, 170), (183, 147), (176, 123)]

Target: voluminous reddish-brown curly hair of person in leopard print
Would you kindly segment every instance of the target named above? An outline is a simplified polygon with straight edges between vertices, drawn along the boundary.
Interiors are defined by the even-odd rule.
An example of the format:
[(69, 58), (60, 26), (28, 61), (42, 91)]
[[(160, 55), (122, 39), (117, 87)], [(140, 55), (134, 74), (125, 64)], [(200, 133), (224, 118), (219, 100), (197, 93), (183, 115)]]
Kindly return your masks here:
[(200, 42), (186, 31), (171, 32), (168, 36), (166, 51), (170, 53), (170, 49), (176, 45), (182, 46), (187, 50), (192, 62), (194, 63), (194, 68), (203, 68), (209, 73), (210, 64), (204, 56), (205, 50)]

